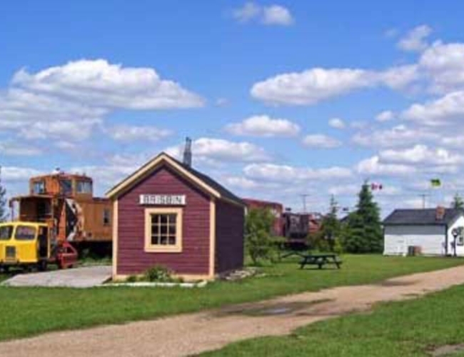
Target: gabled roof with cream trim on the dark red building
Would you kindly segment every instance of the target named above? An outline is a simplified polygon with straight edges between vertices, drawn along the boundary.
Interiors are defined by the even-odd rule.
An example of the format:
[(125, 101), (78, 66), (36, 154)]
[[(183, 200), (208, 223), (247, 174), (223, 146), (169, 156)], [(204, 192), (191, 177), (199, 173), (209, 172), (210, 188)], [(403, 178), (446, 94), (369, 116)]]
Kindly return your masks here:
[(178, 174), (186, 177), (189, 181), (195, 183), (196, 186), (215, 198), (229, 201), (231, 203), (236, 203), (240, 206), (245, 205), (240, 198), (238, 198), (220, 183), (214, 181), (213, 178), (202, 174), (199, 171), (196, 171), (190, 166), (184, 165), (181, 163), (181, 161), (174, 159), (172, 156), (169, 156), (164, 152), (148, 161), (133, 174), (129, 175), (127, 178), (124, 178), (123, 181), (119, 182), (116, 186), (111, 188), (108, 192), (106, 192), (106, 197), (116, 198), (120, 196), (122, 193), (128, 191), (128, 189), (141, 181), (141, 179), (145, 178), (153, 171), (158, 169), (158, 167), (163, 165), (169, 166), (171, 169), (178, 172)]

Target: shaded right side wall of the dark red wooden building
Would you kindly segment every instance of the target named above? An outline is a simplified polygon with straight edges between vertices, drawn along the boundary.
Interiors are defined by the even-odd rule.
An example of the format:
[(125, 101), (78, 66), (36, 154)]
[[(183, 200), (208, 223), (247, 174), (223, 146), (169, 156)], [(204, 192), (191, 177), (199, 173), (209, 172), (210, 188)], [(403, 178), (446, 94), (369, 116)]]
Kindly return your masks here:
[(244, 217), (243, 207), (216, 202), (216, 273), (243, 266)]

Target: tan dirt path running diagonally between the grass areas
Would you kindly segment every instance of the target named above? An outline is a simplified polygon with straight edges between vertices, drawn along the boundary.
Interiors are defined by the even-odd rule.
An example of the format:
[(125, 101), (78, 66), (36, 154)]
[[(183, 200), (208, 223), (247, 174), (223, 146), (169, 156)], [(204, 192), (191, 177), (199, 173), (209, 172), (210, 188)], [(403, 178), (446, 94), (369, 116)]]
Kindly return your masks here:
[(379, 301), (415, 298), (464, 283), (464, 266), (392, 278), (376, 285), (300, 293), (153, 321), (46, 333), (0, 343), (0, 356), (186, 356), (258, 336), (283, 335), (299, 326), (366, 311)]

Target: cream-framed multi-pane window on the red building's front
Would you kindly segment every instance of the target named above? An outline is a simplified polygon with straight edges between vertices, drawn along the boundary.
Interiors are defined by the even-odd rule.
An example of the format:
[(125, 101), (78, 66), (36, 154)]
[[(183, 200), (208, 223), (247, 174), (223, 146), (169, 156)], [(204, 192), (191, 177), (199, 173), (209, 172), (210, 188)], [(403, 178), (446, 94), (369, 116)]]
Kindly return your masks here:
[(145, 209), (145, 251), (180, 253), (182, 251), (182, 208)]

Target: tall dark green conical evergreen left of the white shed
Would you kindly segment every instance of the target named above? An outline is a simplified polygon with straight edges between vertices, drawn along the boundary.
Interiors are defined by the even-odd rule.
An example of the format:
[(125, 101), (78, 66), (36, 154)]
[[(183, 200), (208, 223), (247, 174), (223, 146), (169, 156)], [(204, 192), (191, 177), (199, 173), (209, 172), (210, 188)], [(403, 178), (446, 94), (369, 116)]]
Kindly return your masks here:
[(344, 248), (350, 253), (380, 252), (383, 247), (380, 213), (367, 181), (358, 197), (356, 211), (348, 216)]

